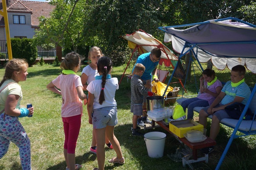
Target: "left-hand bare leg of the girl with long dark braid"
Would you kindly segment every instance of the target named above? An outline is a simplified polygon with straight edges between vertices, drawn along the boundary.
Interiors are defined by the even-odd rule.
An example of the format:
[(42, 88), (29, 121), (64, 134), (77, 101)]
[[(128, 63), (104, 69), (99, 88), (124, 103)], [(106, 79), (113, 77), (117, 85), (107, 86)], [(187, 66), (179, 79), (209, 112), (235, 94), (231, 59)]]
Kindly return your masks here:
[(94, 129), (95, 138), (97, 142), (97, 160), (99, 170), (104, 170), (105, 164), (105, 130), (106, 128)]

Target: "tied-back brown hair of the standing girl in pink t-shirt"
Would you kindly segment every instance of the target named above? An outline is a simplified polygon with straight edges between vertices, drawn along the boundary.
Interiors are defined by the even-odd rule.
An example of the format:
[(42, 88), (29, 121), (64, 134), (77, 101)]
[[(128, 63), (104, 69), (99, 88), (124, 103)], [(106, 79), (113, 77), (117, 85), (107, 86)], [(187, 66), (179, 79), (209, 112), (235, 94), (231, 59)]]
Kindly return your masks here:
[(81, 56), (76, 52), (68, 53), (60, 64), (62, 70), (73, 70), (81, 62)]

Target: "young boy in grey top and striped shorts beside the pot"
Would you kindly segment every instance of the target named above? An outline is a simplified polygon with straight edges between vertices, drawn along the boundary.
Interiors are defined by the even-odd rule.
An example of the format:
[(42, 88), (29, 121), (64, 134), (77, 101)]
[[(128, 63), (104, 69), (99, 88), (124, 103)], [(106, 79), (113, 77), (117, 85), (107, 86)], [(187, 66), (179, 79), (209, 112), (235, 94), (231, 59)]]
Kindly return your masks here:
[(137, 120), (142, 116), (144, 96), (155, 96), (151, 91), (147, 91), (140, 77), (145, 71), (143, 64), (136, 64), (134, 67), (134, 75), (131, 78), (131, 113), (132, 116), (132, 135), (142, 136), (143, 134), (137, 131)]

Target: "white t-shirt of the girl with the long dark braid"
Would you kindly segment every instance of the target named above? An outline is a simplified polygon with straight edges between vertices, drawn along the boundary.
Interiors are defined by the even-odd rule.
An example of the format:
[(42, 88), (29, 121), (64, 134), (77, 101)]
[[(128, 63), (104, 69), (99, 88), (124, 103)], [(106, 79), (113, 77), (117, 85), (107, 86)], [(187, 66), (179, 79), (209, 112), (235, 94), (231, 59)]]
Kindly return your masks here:
[(115, 101), (115, 92), (119, 88), (117, 78), (111, 78), (106, 80), (104, 87), (105, 101), (102, 103), (102, 105), (99, 104), (101, 82), (102, 80), (95, 80), (90, 82), (90, 84), (87, 86), (87, 90), (91, 94), (94, 94), (93, 109), (107, 106), (116, 106), (117, 104)]

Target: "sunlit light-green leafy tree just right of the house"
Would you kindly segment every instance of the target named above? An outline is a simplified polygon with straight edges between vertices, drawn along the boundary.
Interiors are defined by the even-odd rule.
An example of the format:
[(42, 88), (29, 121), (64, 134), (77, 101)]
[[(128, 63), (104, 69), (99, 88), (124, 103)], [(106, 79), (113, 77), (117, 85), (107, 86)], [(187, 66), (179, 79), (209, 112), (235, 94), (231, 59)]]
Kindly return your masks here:
[[(80, 3), (81, 2), (81, 3)], [(79, 0), (51, 0), (49, 3), (55, 6), (51, 17), (40, 17), (40, 30), (36, 31), (37, 44), (54, 43), (62, 47), (73, 47), (81, 43), (82, 18), (81, 15), (85, 4)]]

